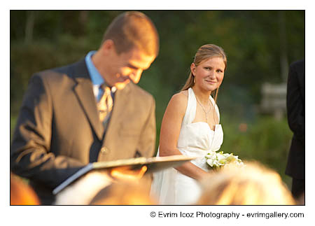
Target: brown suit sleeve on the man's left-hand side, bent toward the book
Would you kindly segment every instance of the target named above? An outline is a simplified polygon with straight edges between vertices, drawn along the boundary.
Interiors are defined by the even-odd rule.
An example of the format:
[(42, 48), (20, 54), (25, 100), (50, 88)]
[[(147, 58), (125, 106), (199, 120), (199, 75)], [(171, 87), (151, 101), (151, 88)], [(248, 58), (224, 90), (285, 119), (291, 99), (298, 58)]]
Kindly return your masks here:
[(47, 82), (41, 76), (33, 76), (22, 101), (10, 146), (10, 169), (19, 176), (55, 188), (83, 164), (50, 151), (52, 109)]

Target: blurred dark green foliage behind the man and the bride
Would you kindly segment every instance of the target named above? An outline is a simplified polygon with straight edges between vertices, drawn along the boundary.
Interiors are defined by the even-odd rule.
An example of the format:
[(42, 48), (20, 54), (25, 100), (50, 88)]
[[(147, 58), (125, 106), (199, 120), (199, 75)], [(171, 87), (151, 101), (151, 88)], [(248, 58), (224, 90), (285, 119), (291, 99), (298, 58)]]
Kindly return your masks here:
[[(10, 11), (10, 132), (36, 71), (76, 62), (97, 50), (120, 10)], [(228, 55), (218, 95), (224, 152), (257, 160), (284, 175), (292, 132), (286, 117), (261, 115), (262, 83), (285, 83), (288, 64), (304, 58), (304, 10), (144, 10), (160, 34), (160, 55), (139, 85), (156, 100), (157, 146), (162, 115), (188, 77), (197, 48), (215, 43)], [(285, 69), (281, 60), (286, 59)], [(282, 65), (282, 67), (281, 67)], [(284, 71), (283, 71), (284, 70)], [(246, 123), (246, 132), (239, 129)]]

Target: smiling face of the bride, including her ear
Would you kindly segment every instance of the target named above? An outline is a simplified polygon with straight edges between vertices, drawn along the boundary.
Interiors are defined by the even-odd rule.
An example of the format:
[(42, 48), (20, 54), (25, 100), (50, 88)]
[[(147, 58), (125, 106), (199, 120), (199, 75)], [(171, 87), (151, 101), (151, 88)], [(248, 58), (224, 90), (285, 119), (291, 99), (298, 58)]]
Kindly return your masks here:
[(196, 77), (196, 83), (202, 90), (214, 91), (218, 88), (224, 77), (225, 64), (222, 57), (211, 57), (196, 66), (190, 66)]

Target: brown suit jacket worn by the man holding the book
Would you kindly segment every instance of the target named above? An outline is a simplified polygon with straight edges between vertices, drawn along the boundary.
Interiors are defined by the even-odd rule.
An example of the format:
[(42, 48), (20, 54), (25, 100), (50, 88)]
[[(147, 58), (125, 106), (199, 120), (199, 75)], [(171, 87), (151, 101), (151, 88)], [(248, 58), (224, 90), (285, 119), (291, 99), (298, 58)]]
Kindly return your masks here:
[(155, 101), (137, 85), (117, 90), (109, 126), (99, 122), (84, 59), (32, 76), (10, 148), (10, 169), (29, 178), (43, 204), (89, 162), (151, 157)]

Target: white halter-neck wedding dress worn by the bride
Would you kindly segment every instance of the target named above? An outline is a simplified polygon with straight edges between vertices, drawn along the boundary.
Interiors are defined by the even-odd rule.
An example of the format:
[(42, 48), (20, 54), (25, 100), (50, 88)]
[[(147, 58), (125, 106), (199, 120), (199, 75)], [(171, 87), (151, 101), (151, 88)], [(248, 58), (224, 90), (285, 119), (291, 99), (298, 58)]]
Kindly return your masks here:
[[(212, 104), (220, 122), (218, 106), (210, 96)], [(197, 167), (209, 171), (206, 158), (209, 150), (219, 150), (223, 143), (223, 130), (220, 124), (211, 130), (206, 122), (193, 122), (196, 114), (197, 101), (192, 88), (188, 89), (188, 104), (181, 124), (181, 132), (177, 148), (183, 155), (197, 156), (191, 162)], [(159, 151), (158, 154), (159, 156)], [(195, 204), (201, 195), (199, 183), (188, 176), (181, 174), (174, 168), (153, 174), (151, 195), (161, 205), (190, 205)]]

